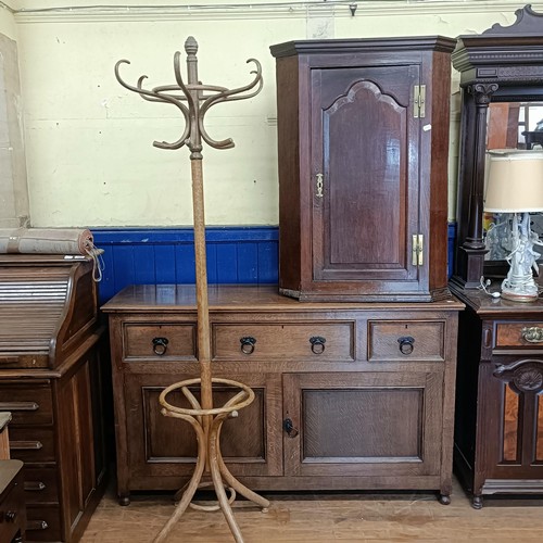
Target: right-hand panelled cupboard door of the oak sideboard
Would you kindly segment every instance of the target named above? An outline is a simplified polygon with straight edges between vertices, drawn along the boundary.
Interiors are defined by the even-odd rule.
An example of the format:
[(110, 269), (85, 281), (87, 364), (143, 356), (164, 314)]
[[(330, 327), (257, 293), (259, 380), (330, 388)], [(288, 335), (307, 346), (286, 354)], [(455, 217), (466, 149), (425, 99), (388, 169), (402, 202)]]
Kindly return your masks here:
[(415, 368), (285, 375), (283, 424), (293, 427), (283, 435), (285, 475), (439, 475), (442, 379)]

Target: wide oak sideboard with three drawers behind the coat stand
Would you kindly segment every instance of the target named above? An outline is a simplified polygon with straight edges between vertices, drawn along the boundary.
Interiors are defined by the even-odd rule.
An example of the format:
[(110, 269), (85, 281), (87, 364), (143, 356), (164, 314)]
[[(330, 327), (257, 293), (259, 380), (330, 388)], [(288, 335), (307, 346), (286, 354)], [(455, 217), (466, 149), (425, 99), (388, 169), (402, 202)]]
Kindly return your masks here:
[[(277, 286), (210, 286), (209, 295), (213, 375), (256, 395), (222, 432), (241, 481), (431, 490), (449, 502), (459, 302), (301, 303)], [(103, 311), (128, 504), (132, 491), (177, 490), (192, 475), (192, 429), (162, 416), (159, 395), (199, 375), (194, 287), (127, 287)], [(214, 389), (214, 403), (230, 394)], [(181, 394), (171, 401), (188, 407)]]

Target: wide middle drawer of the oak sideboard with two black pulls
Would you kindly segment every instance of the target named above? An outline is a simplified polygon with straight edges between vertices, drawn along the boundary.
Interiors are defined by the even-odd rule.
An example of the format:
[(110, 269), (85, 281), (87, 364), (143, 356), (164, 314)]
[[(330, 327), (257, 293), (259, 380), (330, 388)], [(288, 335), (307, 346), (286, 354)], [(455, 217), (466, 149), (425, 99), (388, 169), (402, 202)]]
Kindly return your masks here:
[(212, 326), (214, 361), (354, 361), (354, 321)]

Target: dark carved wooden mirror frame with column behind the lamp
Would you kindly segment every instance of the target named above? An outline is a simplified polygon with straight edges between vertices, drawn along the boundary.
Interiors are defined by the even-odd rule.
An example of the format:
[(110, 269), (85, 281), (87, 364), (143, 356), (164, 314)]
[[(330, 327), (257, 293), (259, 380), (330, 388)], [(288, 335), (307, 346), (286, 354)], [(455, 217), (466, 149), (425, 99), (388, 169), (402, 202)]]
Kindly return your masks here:
[(493, 25), (480, 35), (459, 36), (452, 54), (460, 73), (460, 140), (456, 288), (480, 286), (488, 264), (483, 238), (487, 119), (491, 102), (543, 101), (543, 13), (531, 5), (515, 12), (510, 26)]

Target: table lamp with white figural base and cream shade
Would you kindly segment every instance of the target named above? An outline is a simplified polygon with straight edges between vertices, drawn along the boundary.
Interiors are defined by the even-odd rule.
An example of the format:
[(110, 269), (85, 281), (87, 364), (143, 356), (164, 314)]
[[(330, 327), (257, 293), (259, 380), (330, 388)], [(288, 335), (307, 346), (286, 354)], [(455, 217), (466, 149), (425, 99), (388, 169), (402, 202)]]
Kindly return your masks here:
[(543, 242), (530, 228), (530, 213), (543, 212), (543, 151), (495, 149), (488, 159), (484, 211), (510, 214), (502, 298), (532, 302), (539, 295), (532, 270), (540, 256), (533, 248)]

